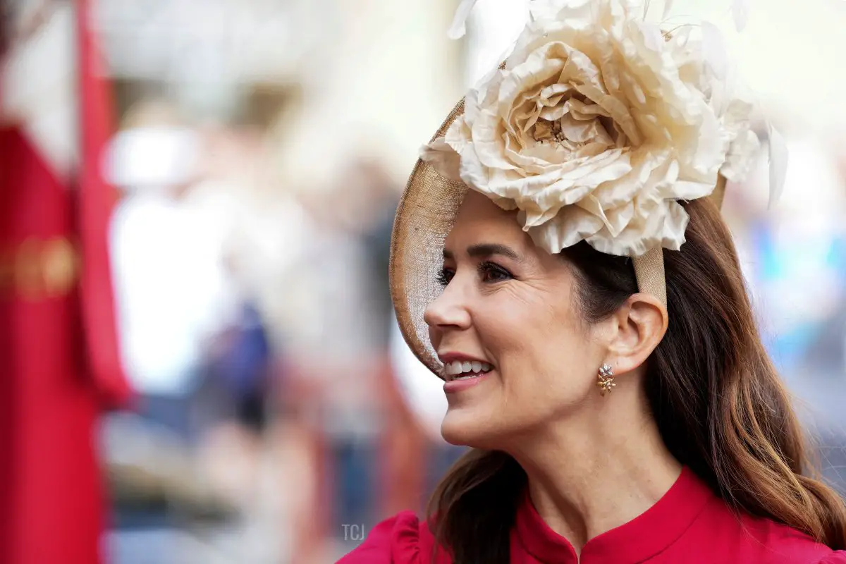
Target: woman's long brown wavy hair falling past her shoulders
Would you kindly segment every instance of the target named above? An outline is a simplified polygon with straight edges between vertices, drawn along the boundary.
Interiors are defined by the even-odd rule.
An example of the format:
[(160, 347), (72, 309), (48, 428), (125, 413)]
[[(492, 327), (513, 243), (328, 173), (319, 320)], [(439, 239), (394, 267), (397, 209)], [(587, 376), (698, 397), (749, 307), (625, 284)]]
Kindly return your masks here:
[[(767, 517), (846, 548), (846, 507), (818, 476), (799, 421), (761, 343), (728, 227), (708, 199), (682, 202), (687, 241), (664, 253), (667, 333), (645, 387), (664, 443), (735, 511)], [(584, 242), (564, 249), (585, 322), (636, 293), (631, 260)], [(455, 564), (506, 564), (526, 474), (505, 452), (471, 450), (431, 497), (437, 542)], [(433, 517), (433, 516), (437, 516)]]

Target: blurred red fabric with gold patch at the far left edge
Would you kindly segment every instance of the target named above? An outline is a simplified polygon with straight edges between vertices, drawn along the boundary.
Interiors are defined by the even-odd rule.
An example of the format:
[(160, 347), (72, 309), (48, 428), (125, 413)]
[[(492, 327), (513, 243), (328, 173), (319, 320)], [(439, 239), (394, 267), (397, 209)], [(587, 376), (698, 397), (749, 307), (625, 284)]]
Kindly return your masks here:
[(54, 170), (25, 123), (6, 119), (0, 126), (4, 564), (101, 561), (106, 501), (97, 416), (131, 395), (108, 260), (114, 197), (100, 171), (111, 106), (93, 66), (87, 3), (75, 8), (81, 137), (74, 178)]

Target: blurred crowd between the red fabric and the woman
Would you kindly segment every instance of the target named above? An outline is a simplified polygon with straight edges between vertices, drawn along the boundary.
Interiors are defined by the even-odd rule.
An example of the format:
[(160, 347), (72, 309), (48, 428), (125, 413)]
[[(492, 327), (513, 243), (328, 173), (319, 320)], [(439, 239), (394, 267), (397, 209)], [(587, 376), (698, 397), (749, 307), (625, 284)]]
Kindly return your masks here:
[(250, 562), (328, 561), (344, 525), (422, 508), (460, 450), (412, 418), (393, 375), (396, 180), (362, 155), (332, 186), (280, 197), (267, 167), (261, 130), (190, 123), (162, 99), (129, 109), (110, 145), (139, 394), (103, 427), (118, 562), (218, 543)]

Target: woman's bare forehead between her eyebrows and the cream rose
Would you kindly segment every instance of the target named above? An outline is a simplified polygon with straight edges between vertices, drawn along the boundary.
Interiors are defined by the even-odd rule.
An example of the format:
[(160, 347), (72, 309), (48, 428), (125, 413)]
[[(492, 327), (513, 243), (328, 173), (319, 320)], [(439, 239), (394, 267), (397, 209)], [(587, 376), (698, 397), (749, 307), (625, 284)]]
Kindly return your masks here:
[(487, 196), (468, 190), (445, 246), (458, 250), (481, 242), (508, 244), (519, 251), (535, 246), (519, 226), (516, 211), (505, 211)]

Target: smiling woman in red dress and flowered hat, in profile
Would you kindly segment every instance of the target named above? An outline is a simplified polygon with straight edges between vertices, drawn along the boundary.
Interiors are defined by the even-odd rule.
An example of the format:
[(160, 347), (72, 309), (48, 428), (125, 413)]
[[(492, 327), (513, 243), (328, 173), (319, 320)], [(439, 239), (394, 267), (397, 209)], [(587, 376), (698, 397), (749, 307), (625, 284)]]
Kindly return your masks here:
[(846, 564), (719, 213), (752, 108), (686, 31), (559, 4), (426, 146), (394, 227), (399, 324), (473, 450), (341, 562)]

